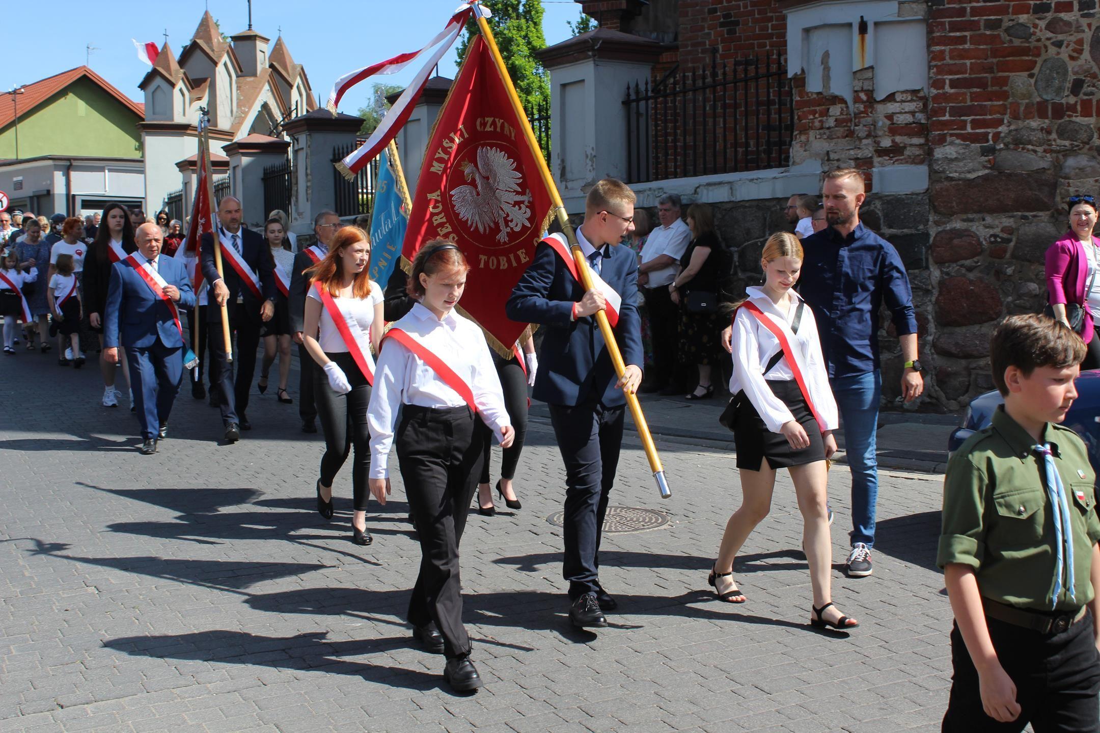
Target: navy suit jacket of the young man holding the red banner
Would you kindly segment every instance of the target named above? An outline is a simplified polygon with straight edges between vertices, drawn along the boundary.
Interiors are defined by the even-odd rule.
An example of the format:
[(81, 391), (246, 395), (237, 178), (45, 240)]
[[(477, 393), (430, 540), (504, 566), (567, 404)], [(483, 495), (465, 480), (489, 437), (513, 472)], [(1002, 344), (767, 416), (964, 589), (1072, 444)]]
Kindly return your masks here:
[[(608, 247), (600, 277), (623, 297), (615, 341), (625, 364), (642, 368), (641, 321), (638, 315), (638, 257), (628, 247)], [(605, 251), (607, 251), (605, 249)], [(615, 385), (618, 377), (594, 315), (570, 316), (584, 288), (562, 258), (546, 243), (516, 284), (505, 306), (513, 321), (543, 329), (542, 352), (532, 397), (551, 404), (576, 406), (595, 395), (606, 407), (626, 403)]]

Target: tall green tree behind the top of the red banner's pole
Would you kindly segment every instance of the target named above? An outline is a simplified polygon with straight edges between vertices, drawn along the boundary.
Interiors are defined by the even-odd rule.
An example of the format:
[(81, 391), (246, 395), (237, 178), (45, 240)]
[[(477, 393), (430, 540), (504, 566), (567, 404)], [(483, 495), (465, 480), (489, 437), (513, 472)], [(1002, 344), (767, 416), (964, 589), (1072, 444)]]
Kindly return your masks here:
[[(524, 108), (536, 109), (549, 102), (550, 79), (542, 62), (535, 56), (535, 52), (547, 46), (542, 34), (542, 3), (540, 0), (494, 0), (492, 10), (488, 24)], [(471, 20), (459, 46), (460, 66), (476, 33), (477, 23)]]

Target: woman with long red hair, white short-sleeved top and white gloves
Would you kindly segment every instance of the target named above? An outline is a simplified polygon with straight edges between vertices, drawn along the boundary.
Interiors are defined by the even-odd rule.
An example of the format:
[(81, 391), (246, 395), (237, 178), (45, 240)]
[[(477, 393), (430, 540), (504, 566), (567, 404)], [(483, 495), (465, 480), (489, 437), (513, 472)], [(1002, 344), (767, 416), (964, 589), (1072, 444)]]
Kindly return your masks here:
[[(314, 370), (314, 396), (317, 417), (324, 433), (324, 455), (321, 476), (317, 480), (317, 511), (332, 519), (332, 481), (349, 453), (352, 459), (352, 542), (369, 545), (366, 531), (367, 469), (371, 466), (370, 433), (366, 409), (371, 401), (371, 382), (363, 373), (374, 369), (371, 349), (378, 351), (382, 338), (382, 288), (369, 276), (371, 241), (356, 226), (338, 231), (329, 243), (329, 254), (304, 275), (312, 278), (306, 292), (302, 344), (321, 367)], [(323, 289), (323, 293), (320, 289)], [(329, 297), (330, 303), (323, 301)], [(330, 308), (340, 312), (333, 321)], [(345, 331), (352, 343), (348, 343)], [(356, 360), (356, 353), (364, 359)], [(373, 379), (373, 374), (371, 375)]]

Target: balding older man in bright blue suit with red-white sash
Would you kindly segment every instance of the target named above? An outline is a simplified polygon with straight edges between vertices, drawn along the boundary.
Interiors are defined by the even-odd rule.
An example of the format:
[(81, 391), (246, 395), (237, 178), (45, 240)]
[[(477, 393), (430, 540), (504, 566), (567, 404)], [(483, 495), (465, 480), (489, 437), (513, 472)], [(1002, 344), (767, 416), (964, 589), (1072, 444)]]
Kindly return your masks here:
[[(138, 252), (111, 266), (103, 356), (108, 362), (118, 362), (119, 346), (127, 352), (144, 441), (141, 453), (152, 455), (157, 440), (168, 434), (168, 414), (184, 378), (178, 309), (195, 306), (195, 293), (183, 263), (161, 256), (160, 226), (142, 224), (134, 238)], [(161, 293), (172, 300), (176, 312)]]

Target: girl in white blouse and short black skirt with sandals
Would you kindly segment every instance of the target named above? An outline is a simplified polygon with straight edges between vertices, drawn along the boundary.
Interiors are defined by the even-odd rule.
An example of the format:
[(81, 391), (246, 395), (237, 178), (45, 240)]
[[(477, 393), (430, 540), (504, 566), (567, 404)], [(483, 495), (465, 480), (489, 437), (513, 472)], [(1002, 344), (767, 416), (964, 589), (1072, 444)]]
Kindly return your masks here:
[[(832, 601), (826, 459), (836, 452), (833, 431), (839, 420), (813, 309), (792, 289), (802, 269), (799, 238), (789, 232), (772, 234), (760, 266), (766, 281), (762, 287), (746, 288), (748, 298), (737, 308), (732, 338), (734, 374), (729, 393), (737, 409), (732, 426), (744, 500), (726, 523), (708, 582), (719, 599), (746, 601), (733, 579), (734, 557), (768, 515), (776, 469), (785, 467), (802, 512), (802, 546), (813, 589), (811, 623), (853, 629), (858, 625), (856, 620), (844, 615)], [(793, 364), (771, 329), (787, 340)]]

